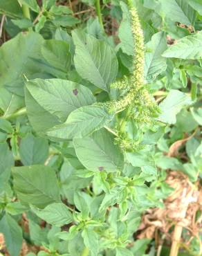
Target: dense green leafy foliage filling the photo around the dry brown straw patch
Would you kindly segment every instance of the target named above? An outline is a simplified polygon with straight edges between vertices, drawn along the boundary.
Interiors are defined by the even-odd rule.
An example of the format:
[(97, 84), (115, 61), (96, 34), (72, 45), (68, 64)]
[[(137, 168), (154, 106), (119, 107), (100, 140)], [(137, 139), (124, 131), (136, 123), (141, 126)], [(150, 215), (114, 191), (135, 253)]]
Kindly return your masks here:
[[(0, 232), (11, 256), (23, 239), (38, 256), (156, 255), (136, 235), (172, 192), (167, 170), (201, 178), (202, 3), (131, 2), (145, 63), (125, 104), (141, 32), (127, 1), (69, 2), (0, 0)], [(167, 156), (191, 135), (186, 160)], [(195, 237), (179, 255), (200, 251)]]

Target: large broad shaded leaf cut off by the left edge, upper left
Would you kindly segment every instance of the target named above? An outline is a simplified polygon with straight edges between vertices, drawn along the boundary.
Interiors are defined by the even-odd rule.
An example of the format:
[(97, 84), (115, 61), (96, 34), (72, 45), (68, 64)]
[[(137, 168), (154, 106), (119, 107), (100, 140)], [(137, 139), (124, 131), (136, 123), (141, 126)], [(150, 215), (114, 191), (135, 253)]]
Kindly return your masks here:
[(43, 41), (43, 37), (37, 33), (19, 33), (1, 46), (0, 87), (6, 86), (9, 91), (23, 96), (24, 76), (33, 79), (47, 77), (48, 72), (53, 72), (42, 57)]

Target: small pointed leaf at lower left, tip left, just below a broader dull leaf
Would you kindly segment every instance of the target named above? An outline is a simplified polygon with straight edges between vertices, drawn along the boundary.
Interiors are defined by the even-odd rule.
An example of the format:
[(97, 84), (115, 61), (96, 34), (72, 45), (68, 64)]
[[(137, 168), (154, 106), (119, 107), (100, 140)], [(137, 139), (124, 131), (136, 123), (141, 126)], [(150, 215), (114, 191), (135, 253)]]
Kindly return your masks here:
[(64, 203), (51, 203), (43, 210), (31, 205), (31, 210), (33, 210), (39, 218), (53, 226), (62, 227), (73, 221), (72, 214)]

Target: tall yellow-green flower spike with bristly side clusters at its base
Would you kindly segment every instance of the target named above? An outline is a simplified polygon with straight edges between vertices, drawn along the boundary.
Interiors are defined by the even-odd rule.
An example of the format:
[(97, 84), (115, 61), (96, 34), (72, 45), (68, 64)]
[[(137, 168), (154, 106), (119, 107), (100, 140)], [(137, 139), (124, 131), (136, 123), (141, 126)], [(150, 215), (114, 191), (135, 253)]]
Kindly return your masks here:
[[(141, 136), (131, 138), (126, 131), (127, 124), (132, 122), (136, 131), (143, 131), (148, 126), (154, 125), (156, 118), (160, 113), (158, 106), (145, 86), (144, 65), (145, 65), (145, 47), (144, 35), (140, 26), (140, 20), (136, 8), (129, 1), (131, 13), (131, 32), (134, 38), (134, 58), (133, 73), (130, 77), (124, 77), (122, 80), (111, 84), (111, 88), (120, 91), (120, 98), (109, 103), (108, 108), (111, 113), (122, 113), (120, 122), (116, 127), (118, 138), (117, 143), (125, 151), (140, 149)], [(140, 132), (141, 133), (141, 132)], [(139, 134), (140, 134), (139, 133)], [(143, 134), (143, 132), (142, 132)]]

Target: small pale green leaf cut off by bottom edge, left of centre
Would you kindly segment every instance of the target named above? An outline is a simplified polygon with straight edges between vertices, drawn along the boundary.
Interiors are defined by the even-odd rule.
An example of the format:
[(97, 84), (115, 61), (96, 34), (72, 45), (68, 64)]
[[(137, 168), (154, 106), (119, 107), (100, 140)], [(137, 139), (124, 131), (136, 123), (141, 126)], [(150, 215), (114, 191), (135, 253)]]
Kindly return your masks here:
[(91, 256), (98, 256), (98, 235), (95, 231), (90, 228), (84, 228), (82, 232), (82, 237), (84, 239), (84, 244), (86, 248), (91, 251)]

